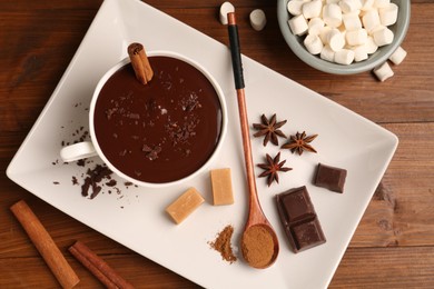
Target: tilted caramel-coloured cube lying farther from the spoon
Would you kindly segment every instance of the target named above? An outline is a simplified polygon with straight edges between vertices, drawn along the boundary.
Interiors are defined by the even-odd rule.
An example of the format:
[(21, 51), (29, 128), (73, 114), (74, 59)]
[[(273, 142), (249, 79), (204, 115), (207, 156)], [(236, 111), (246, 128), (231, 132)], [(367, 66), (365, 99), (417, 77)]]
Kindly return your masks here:
[(195, 188), (189, 188), (166, 208), (166, 212), (176, 223), (180, 223), (203, 202), (204, 198), (200, 193)]

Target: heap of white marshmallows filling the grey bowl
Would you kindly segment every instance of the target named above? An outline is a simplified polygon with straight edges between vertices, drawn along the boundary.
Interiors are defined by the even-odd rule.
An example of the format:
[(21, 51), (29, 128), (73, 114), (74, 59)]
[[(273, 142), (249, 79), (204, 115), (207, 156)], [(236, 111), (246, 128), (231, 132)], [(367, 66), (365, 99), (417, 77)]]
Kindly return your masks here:
[(305, 37), (306, 50), (341, 64), (366, 60), (378, 47), (392, 43), (388, 26), (398, 14), (391, 0), (289, 0), (287, 10), (293, 16), (290, 30)]

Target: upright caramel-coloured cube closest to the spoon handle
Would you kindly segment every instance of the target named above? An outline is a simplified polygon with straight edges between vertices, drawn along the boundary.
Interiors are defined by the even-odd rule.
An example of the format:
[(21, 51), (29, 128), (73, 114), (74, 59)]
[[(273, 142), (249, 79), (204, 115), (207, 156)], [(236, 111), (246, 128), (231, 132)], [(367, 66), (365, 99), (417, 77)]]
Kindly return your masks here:
[(210, 171), (214, 205), (234, 203), (233, 182), (230, 169), (216, 169)]

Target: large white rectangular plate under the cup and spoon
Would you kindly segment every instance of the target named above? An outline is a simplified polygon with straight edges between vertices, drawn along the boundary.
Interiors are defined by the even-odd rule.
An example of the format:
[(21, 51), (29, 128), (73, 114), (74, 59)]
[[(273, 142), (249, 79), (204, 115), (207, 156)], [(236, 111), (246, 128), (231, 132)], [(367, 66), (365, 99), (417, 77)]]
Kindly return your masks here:
[[(215, 23), (218, 26), (218, 23)], [(225, 29), (225, 27), (221, 27)], [(228, 133), (220, 156), (211, 168), (231, 169), (235, 205), (211, 206), (208, 173), (184, 186), (161, 190), (122, 187), (108, 188), (90, 200), (72, 185), (82, 183), (87, 167), (58, 163), (62, 141), (73, 141), (76, 130), (88, 128), (87, 108), (93, 88), (103, 72), (127, 56), (127, 46), (138, 41), (147, 50), (184, 53), (210, 71), (226, 93)], [(241, 40), (243, 42), (243, 40)], [(257, 179), (259, 199), (277, 230), (280, 253), (265, 270), (249, 268), (241, 259), (229, 265), (209, 247), (216, 233), (233, 225), (238, 239), (247, 213), (246, 181), (230, 54), (227, 47), (137, 0), (106, 0), (80, 48), (48, 101), (38, 121), (8, 168), (8, 176), (42, 200), (112, 238), (138, 253), (169, 268), (206, 288), (326, 288), (365, 211), (372, 195), (391, 161), (397, 138), (389, 131), (329, 101), (327, 98), (244, 57), (249, 122), (260, 114), (277, 113), (287, 119), (286, 134), (318, 133), (312, 144), (318, 153), (303, 156), (282, 150), (292, 171), (280, 173), (280, 183), (269, 188)], [(79, 133), (82, 133), (79, 132)], [(276, 155), (279, 147), (263, 147), (251, 139), (254, 162), (265, 153)], [(280, 144), (283, 141), (280, 140)], [(343, 195), (312, 185), (316, 165), (347, 169)], [(256, 175), (260, 173), (258, 168)], [(118, 179), (118, 183), (122, 183)], [(280, 227), (274, 196), (307, 186), (327, 238), (325, 245), (293, 253)], [(185, 222), (174, 225), (164, 210), (188, 187), (196, 187), (206, 203)]]

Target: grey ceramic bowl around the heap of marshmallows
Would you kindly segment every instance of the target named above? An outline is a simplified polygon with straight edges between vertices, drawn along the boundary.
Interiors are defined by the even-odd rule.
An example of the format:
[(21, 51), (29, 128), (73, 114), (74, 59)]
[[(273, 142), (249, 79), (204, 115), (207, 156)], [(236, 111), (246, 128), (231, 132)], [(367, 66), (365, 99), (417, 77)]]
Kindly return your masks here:
[(393, 42), (388, 46), (379, 47), (375, 53), (369, 56), (368, 59), (361, 62), (353, 62), (348, 66), (323, 60), (318, 56), (313, 56), (306, 50), (303, 44), (304, 37), (293, 34), (288, 26), (288, 20), (290, 18), (286, 8), (288, 0), (277, 0), (277, 19), (280, 31), (289, 48), (304, 62), (320, 71), (333, 74), (354, 74), (372, 70), (385, 62), (404, 40), (410, 24), (410, 0), (391, 0), (391, 2), (394, 2), (400, 8), (396, 23), (388, 27), (395, 34)]

